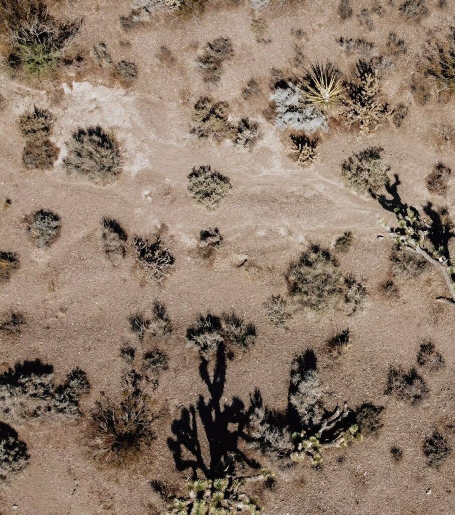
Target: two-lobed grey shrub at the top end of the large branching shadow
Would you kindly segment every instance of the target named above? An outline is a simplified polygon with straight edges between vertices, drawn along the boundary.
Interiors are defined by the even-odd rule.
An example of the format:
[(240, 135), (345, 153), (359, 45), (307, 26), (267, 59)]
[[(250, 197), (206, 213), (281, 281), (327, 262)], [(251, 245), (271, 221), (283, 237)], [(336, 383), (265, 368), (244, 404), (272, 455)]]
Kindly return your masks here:
[(221, 318), (208, 313), (199, 315), (195, 324), (186, 330), (186, 339), (208, 361), (220, 345), (228, 346), (230, 357), (236, 350), (248, 350), (256, 340), (256, 328), (234, 312)]

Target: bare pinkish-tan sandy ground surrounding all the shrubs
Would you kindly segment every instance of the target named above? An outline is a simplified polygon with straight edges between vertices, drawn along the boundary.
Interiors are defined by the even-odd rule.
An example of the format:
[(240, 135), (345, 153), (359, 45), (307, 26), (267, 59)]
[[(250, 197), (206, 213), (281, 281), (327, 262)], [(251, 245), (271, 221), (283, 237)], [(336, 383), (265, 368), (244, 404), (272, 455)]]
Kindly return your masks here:
[[(354, 11), (367, 4), (353, 0)], [(14, 425), (27, 442), (30, 461), (0, 487), (2, 515), (162, 511), (149, 482), (180, 484), (186, 477), (176, 471), (166, 440), (179, 408), (205, 391), (197, 373), (197, 354), (185, 344), (185, 330), (199, 312), (220, 314), (234, 308), (254, 321), (258, 338), (248, 353), (229, 362), (226, 400), (238, 395), (248, 402), (250, 392), (259, 388), (268, 405), (284, 408), (292, 358), (312, 347), (320, 358), (331, 404), (369, 400), (385, 407), (383, 427), (376, 435), (346, 450), (328, 452), (321, 469), (300, 464), (281, 470), (269, 464), (276, 486), (263, 495), (264, 513), (455, 513), (453, 457), (436, 470), (426, 466), (422, 453), (425, 435), (453, 423), (455, 414), (454, 308), (435, 302), (437, 295), (444, 295), (445, 284), (432, 269), (415, 280), (398, 278), (398, 299), (381, 296), (377, 288), (389, 273), (391, 249), (387, 238), (377, 238), (382, 233), (377, 217), (384, 213), (374, 200), (346, 187), (340, 175), (346, 157), (366, 145), (381, 146), (384, 161), (400, 176), (404, 198), (417, 206), (432, 200), (453, 208), (453, 182), (446, 199), (431, 195), (425, 185), (436, 162), (455, 168), (453, 146), (440, 144), (434, 133), (438, 123), (455, 124), (453, 102), (432, 99), (419, 105), (409, 88), (427, 32), (455, 21), (451, 0), (444, 10), (430, 4), (430, 15), (419, 23), (407, 22), (396, 8), (385, 6), (381, 16), (373, 15), (373, 31), (360, 26), (355, 15), (341, 21), (337, 2), (314, 0), (267, 8), (260, 14), (243, 3), (220, 5), (184, 20), (157, 17), (125, 32), (118, 16), (128, 12), (128, 1), (55, 3), (59, 15), (83, 15), (77, 44), (86, 49), (86, 64), (79, 71), (66, 71), (54, 83), (38, 86), (2, 77), (6, 105), (0, 111), (0, 194), (10, 198), (11, 205), (0, 212), (0, 250), (17, 252), (21, 266), (1, 284), (0, 307), (21, 311), (28, 323), (20, 336), (0, 334), (0, 361), (6, 367), (40, 357), (54, 365), (58, 380), (80, 366), (88, 373), (92, 390), (83, 397), (85, 417), (80, 420), (41, 419)], [(267, 20), (270, 43), (256, 42), (250, 28), (255, 15)], [(302, 29), (302, 38), (295, 36), (296, 29)], [(381, 50), (392, 29), (406, 40), (408, 52), (394, 58), (394, 65), (383, 74), (382, 88), (392, 105), (404, 102), (409, 107), (402, 126), (385, 125), (359, 135), (331, 122), (328, 133), (321, 136), (316, 164), (298, 167), (287, 157), (283, 145), (287, 136), (265, 116), (272, 68), (291, 73), (298, 44), (305, 58), (330, 58), (349, 74), (358, 55), (346, 53), (336, 39), (364, 37)], [(224, 63), (219, 84), (209, 87), (194, 59), (198, 48), (218, 36), (232, 39), (235, 57)], [(91, 64), (88, 49), (98, 41), (106, 43), (114, 61), (137, 64), (139, 75), (130, 87)], [(163, 44), (177, 58), (175, 64), (163, 64), (156, 57)], [(252, 77), (262, 92), (244, 100), (241, 90)], [(190, 136), (191, 110), (200, 94), (228, 100), (235, 119), (249, 116), (259, 122), (263, 138), (251, 152), (231, 142)], [(17, 118), (33, 104), (47, 107), (56, 118), (51, 139), (62, 151), (48, 171), (27, 170), (21, 162), (24, 141)], [(72, 131), (94, 124), (115, 131), (124, 156), (120, 178), (107, 186), (68, 178), (62, 166)], [(229, 176), (233, 184), (214, 211), (197, 204), (186, 191), (190, 169), (203, 164)], [(62, 219), (61, 237), (46, 250), (33, 245), (23, 221), (24, 215), (41, 207)], [(130, 235), (153, 235), (164, 228), (176, 266), (162, 285), (138, 277), (132, 254), (115, 265), (106, 258), (99, 233), (104, 215), (119, 220)], [(200, 259), (195, 250), (198, 233), (207, 226), (218, 227), (225, 242), (212, 262)], [(288, 331), (274, 328), (264, 301), (277, 292), (286, 294), (283, 274), (288, 262), (308, 241), (330, 245), (346, 230), (353, 231), (355, 238), (341, 258), (341, 268), (364, 279), (368, 288), (364, 310), (352, 317), (300, 310)], [(238, 267), (245, 258), (254, 266)], [(101, 390), (112, 395), (119, 391), (127, 369), (119, 348), (131, 338), (127, 317), (155, 300), (167, 306), (174, 327), (166, 343), (169, 369), (152, 392), (162, 410), (156, 439), (124, 468), (99, 467), (88, 447), (90, 411)], [(335, 329), (346, 326), (354, 345), (334, 363), (324, 353), (324, 342)], [(429, 396), (415, 406), (384, 396), (389, 364), (414, 365), (418, 341), (426, 337), (446, 360), (440, 372), (422, 371)], [(455, 441), (455, 435), (450, 438)], [(395, 463), (389, 448), (397, 442), (404, 458)]]

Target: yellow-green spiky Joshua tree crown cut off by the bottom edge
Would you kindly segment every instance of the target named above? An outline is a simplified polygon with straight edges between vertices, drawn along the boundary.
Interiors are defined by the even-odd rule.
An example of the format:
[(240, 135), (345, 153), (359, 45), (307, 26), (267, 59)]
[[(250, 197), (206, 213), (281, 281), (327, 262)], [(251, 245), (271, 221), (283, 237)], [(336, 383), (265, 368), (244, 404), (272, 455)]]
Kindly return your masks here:
[(231, 515), (239, 511), (259, 513), (257, 500), (240, 488), (252, 481), (267, 480), (270, 472), (261, 470), (260, 474), (248, 477), (234, 477), (211, 480), (197, 479), (188, 483), (188, 496), (175, 497), (167, 506), (166, 515)]

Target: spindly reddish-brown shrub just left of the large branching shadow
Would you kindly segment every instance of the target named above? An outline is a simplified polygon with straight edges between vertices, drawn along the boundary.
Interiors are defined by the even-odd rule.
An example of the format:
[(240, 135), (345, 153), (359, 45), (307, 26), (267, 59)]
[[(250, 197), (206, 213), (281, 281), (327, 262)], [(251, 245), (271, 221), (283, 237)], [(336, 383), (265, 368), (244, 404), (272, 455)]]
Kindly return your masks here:
[(155, 416), (148, 396), (141, 390), (140, 378), (132, 373), (120, 399), (101, 393), (92, 413), (94, 458), (104, 464), (122, 464), (137, 455), (153, 437)]

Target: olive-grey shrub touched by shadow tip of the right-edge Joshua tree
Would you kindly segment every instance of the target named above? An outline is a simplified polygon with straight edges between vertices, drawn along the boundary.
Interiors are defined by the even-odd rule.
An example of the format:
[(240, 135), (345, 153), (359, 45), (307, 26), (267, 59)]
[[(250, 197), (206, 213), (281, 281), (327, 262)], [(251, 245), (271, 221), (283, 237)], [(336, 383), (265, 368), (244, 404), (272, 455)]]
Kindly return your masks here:
[(341, 175), (360, 193), (379, 193), (389, 180), (390, 167), (381, 161), (381, 147), (365, 148), (343, 161)]

